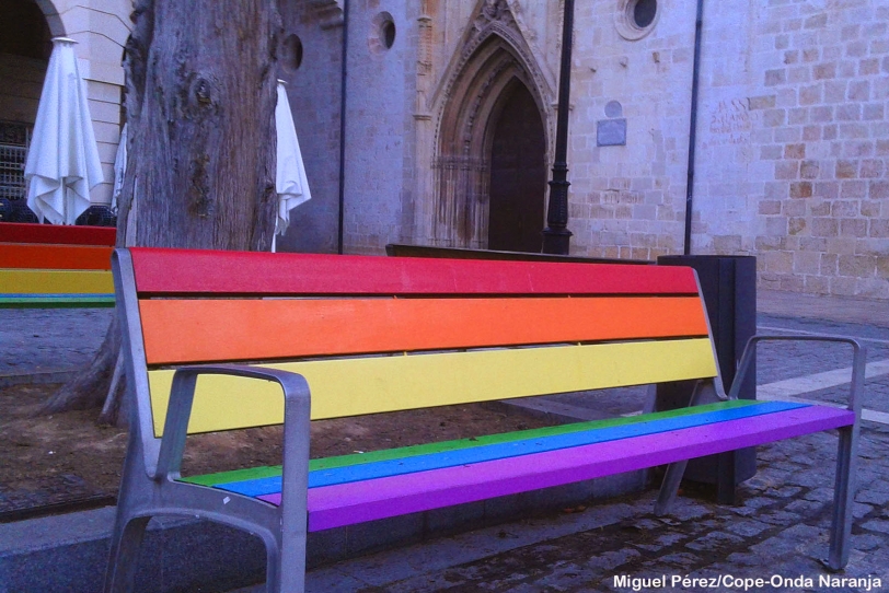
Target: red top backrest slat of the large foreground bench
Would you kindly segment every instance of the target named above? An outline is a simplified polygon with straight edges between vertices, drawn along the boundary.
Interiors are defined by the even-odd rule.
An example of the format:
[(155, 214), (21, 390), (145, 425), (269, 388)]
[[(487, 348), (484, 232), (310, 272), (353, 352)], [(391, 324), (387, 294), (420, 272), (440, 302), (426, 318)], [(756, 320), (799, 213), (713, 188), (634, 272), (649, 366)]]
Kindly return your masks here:
[(153, 294), (697, 294), (690, 268), (132, 248)]

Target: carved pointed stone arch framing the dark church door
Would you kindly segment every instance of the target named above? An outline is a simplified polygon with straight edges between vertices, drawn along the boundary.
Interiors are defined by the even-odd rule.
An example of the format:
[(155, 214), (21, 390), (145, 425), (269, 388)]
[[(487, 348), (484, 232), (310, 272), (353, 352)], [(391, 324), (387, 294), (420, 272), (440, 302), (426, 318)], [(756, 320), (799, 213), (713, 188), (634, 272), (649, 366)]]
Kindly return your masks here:
[(432, 162), (437, 245), (487, 247), (493, 128), (517, 84), (534, 100), (551, 153), (552, 86), (505, 4), (484, 4), (490, 10), (482, 10), (473, 22), (460, 57), (434, 96), (441, 104)]

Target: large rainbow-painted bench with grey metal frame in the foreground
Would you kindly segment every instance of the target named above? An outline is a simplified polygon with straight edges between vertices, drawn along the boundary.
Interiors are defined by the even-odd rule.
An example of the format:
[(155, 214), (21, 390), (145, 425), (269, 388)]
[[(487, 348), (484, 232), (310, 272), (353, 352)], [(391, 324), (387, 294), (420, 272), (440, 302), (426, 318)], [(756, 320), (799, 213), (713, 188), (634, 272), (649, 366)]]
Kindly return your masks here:
[[(299, 592), (308, 532), (671, 464), (663, 512), (689, 458), (832, 429), (846, 562), (864, 350), (827, 338), (853, 345), (848, 409), (725, 396), (689, 268), (131, 248), (113, 271), (135, 416), (106, 591), (130, 590), (153, 515), (259, 535), (268, 591)], [(719, 397), (309, 460), (313, 419), (677, 380)], [(282, 466), (181, 475), (189, 433), (281, 422)]]

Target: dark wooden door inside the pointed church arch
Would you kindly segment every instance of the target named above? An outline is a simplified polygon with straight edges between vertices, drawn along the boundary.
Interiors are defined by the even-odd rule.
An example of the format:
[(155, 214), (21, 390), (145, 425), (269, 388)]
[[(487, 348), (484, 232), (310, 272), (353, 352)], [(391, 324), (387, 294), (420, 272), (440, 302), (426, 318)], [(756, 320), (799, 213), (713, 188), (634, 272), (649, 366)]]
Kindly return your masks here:
[(546, 142), (524, 85), (505, 98), (490, 153), (488, 248), (540, 253), (546, 193)]

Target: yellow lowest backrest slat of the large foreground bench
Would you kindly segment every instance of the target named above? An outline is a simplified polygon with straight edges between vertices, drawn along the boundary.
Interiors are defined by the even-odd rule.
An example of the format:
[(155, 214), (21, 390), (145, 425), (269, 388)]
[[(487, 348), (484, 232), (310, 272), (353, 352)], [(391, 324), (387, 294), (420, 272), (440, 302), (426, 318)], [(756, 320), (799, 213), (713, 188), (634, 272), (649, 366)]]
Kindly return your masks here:
[[(263, 364), (302, 374), (312, 419), (598, 389), (716, 374), (706, 338), (385, 356)], [(149, 372), (160, 433), (172, 370)], [(276, 384), (207, 375), (198, 380), (189, 432), (279, 423)]]

